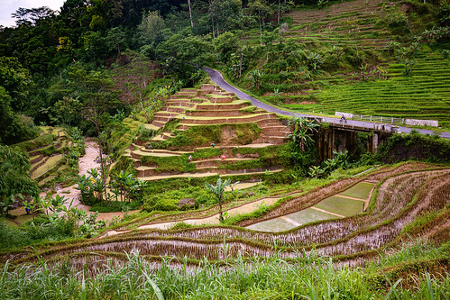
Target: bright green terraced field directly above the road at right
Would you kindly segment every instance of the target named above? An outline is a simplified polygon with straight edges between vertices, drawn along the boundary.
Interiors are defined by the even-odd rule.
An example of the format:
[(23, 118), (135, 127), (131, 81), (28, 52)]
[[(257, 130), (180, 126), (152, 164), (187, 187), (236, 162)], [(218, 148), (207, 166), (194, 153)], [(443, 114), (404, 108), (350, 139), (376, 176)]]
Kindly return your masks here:
[(380, 115), (394, 118), (437, 120), (450, 124), (450, 60), (438, 54), (418, 60), (411, 77), (403, 77), (404, 67), (388, 68), (389, 80), (327, 86), (310, 93), (315, 105), (286, 105), (297, 112), (337, 112)]

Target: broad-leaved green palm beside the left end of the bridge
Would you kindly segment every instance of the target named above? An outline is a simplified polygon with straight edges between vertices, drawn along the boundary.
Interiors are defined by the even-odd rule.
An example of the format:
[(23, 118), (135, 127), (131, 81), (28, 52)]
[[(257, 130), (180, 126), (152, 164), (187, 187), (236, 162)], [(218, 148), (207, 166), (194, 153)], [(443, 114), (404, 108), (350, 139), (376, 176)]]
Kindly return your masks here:
[(288, 135), (288, 138), (298, 144), (302, 152), (305, 152), (306, 147), (314, 143), (312, 134), (317, 132), (318, 126), (314, 121), (296, 116), (289, 120), (288, 127), (293, 127), (293, 131)]

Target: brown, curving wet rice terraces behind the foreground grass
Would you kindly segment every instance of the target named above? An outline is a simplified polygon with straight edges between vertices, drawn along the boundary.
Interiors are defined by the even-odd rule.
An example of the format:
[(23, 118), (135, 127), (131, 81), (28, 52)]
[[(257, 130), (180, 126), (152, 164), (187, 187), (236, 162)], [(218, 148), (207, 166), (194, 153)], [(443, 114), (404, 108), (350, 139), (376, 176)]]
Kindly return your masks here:
[[(298, 207), (325, 205), (323, 200), (329, 199), (331, 195), (367, 195), (370, 186), (365, 183), (377, 183), (377, 194), (363, 214), (307, 223), (288, 232), (255, 232), (243, 228), (298, 212)], [(209, 225), (169, 231), (134, 230), (82, 243), (65, 241), (53, 243), (51, 246), (41, 245), (35, 251), (42, 259), (69, 260), (72, 266), (79, 269), (84, 268), (88, 261), (87, 268), (92, 273), (102, 268), (101, 264), (96, 263), (99, 255), (103, 259), (120, 262), (126, 259), (124, 251), (131, 250), (140, 250), (141, 256), (153, 261), (173, 257), (176, 259), (170, 260), (171, 263), (178, 265), (177, 258), (186, 258), (185, 264), (196, 266), (199, 259), (214, 261), (239, 255), (243, 258), (277, 255), (294, 259), (308, 255), (315, 249), (319, 254), (333, 256), (353, 266), (362, 266), (372, 257), (376, 257), (380, 250), (396, 245), (404, 239), (409, 240), (421, 235), (438, 243), (448, 241), (449, 201), (449, 168), (407, 163), (393, 168), (381, 168), (362, 177), (339, 180), (306, 194), (292, 195), (261, 218), (239, 223), (241, 227)], [(339, 210), (340, 207), (333, 208), (328, 205), (326, 208), (344, 212)], [(411, 222), (424, 214), (434, 217), (404, 232)], [(308, 217), (312, 218), (313, 215)], [(154, 219), (152, 223), (161, 223), (163, 219), (162, 216), (161, 219)], [(182, 217), (179, 216), (179, 219)], [(300, 216), (297, 220), (300, 220)], [(5, 263), (7, 259), (11, 259), (13, 266), (37, 261), (36, 253), (32, 250), (0, 255), (1, 262)]]

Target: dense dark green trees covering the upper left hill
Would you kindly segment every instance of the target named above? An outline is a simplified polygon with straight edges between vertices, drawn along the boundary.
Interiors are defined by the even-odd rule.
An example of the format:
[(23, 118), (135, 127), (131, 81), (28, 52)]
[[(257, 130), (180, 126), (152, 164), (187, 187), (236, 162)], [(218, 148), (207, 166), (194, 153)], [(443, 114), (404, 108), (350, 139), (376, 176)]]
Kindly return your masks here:
[[(20, 8), (14, 13), (16, 26), (1, 28), (0, 32), (2, 142), (12, 144), (35, 136), (37, 131), (32, 123), (68, 124), (89, 132), (92, 126), (82, 112), (94, 95), (102, 94), (111, 102), (108, 114), (117, 111), (129, 114), (130, 103), (115, 101), (115, 93), (102, 89), (114, 85), (108, 79), (108, 69), (127, 63), (124, 55), (127, 49), (158, 61), (162, 73), (172, 76), (172, 86), (192, 86), (201, 76), (199, 67), (203, 65), (225, 65), (234, 70), (230, 74), (238, 79), (243, 72), (250, 74), (265, 55), (269, 58), (270, 52), (273, 55), (284, 52), (293, 60), (284, 67), (288, 77), (292, 67), (309, 66), (314, 71), (322, 65), (325, 70), (339, 69), (342, 67), (339, 63), (333, 67), (335, 56), (340, 57), (339, 49), (329, 58), (318, 51), (302, 49), (301, 45), (298, 48), (289, 40), (272, 49), (275, 46), (271, 43), (280, 40), (277, 27), (289, 23), (289, 18), (280, 15), (308, 5), (324, 7), (330, 3), (70, 0), (60, 12), (45, 6)], [(408, 36), (445, 28), (438, 26), (448, 24), (449, 8), (445, 1), (426, 4), (413, 1), (409, 5), (412, 7), (409, 14), (418, 16), (423, 23), (407, 23), (410, 29), (406, 32), (403, 27), (407, 15), (394, 10), (386, 12), (392, 19), (387, 21), (388, 26), (399, 32), (403, 42), (409, 40)], [(430, 15), (435, 17), (427, 19)], [(241, 49), (242, 31), (252, 28), (261, 32), (261, 45), (249, 48), (247, 42)], [(437, 39), (448, 36), (448, 32), (436, 34)], [(436, 40), (436, 36), (431, 38)], [(344, 57), (354, 55), (353, 51), (346, 50)], [(373, 55), (348, 60), (358, 68), (366, 60), (373, 60)], [(236, 63), (241, 66), (239, 74), (235, 73)], [(250, 76), (258, 77), (253, 73)], [(253, 80), (253, 84), (259, 87), (257, 81)], [(148, 95), (149, 88), (145, 96)]]

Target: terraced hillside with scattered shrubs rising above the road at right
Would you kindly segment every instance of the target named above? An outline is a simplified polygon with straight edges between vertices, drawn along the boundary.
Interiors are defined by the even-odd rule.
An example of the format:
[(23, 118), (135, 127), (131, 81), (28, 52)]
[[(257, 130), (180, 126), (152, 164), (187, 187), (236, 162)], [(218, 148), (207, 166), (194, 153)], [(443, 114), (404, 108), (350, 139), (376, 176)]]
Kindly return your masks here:
[[(449, 60), (436, 41), (411, 43), (425, 29), (415, 18), (430, 14), (418, 7), (361, 0), (285, 14), (289, 29), (263, 36), (271, 42), (263, 47), (267, 58), (249, 63), (262, 72), (261, 87), (252, 90), (296, 112), (429, 119), (446, 128)], [(259, 32), (240, 38), (260, 43)], [(252, 87), (252, 69), (237, 83)]]

